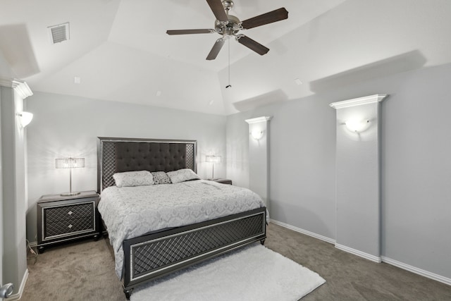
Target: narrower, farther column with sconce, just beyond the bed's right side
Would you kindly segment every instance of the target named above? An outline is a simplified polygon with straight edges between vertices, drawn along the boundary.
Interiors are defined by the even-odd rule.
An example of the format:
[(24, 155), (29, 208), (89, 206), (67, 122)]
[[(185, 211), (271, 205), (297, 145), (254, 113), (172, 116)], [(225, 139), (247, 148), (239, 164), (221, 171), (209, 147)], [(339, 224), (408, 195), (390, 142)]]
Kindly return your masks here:
[(249, 123), (249, 189), (269, 209), (269, 121), (273, 116), (246, 119)]

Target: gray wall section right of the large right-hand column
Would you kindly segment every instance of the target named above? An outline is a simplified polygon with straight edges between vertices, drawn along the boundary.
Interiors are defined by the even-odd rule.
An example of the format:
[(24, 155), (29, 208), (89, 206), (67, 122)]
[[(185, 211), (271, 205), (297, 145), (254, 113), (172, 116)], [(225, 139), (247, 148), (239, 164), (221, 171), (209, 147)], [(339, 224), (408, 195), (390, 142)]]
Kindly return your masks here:
[(388, 78), (382, 104), (382, 254), (447, 278), (450, 78), (451, 64)]

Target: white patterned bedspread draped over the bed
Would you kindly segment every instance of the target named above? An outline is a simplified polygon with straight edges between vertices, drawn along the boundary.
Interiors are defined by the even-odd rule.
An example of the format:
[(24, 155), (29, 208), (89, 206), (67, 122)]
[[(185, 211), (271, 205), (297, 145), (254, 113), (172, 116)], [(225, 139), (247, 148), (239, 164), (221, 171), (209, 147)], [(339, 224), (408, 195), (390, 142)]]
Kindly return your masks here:
[(209, 180), (111, 186), (101, 192), (99, 202), (99, 212), (114, 248), (119, 278), (123, 276), (123, 240), (260, 207), (264, 207), (264, 202), (251, 190)]

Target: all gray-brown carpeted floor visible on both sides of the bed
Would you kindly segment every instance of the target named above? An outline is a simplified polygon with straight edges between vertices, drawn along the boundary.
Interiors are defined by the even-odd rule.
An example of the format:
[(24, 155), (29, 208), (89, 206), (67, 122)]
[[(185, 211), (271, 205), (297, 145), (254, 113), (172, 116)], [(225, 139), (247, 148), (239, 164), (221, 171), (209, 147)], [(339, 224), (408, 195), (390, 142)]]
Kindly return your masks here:
[[(451, 300), (451, 286), (389, 264), (376, 264), (328, 242), (270, 224), (266, 247), (315, 271), (326, 283), (309, 300)], [(21, 300), (125, 300), (108, 239), (82, 240), (28, 261)]]

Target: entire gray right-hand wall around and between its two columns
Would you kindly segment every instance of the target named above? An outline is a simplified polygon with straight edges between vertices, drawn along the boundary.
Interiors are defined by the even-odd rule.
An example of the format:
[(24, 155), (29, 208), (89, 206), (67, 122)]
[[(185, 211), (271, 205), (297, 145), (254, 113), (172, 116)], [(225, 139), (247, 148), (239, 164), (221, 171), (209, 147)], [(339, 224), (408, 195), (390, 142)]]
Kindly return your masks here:
[[(227, 118), (227, 175), (248, 185), (246, 118), (272, 115), (271, 218), (335, 240), (335, 111), (390, 94), (381, 113), (381, 254), (451, 278), (451, 65), (414, 70)], [(238, 164), (235, 164), (235, 161)], [(237, 178), (233, 178), (237, 176)]]

